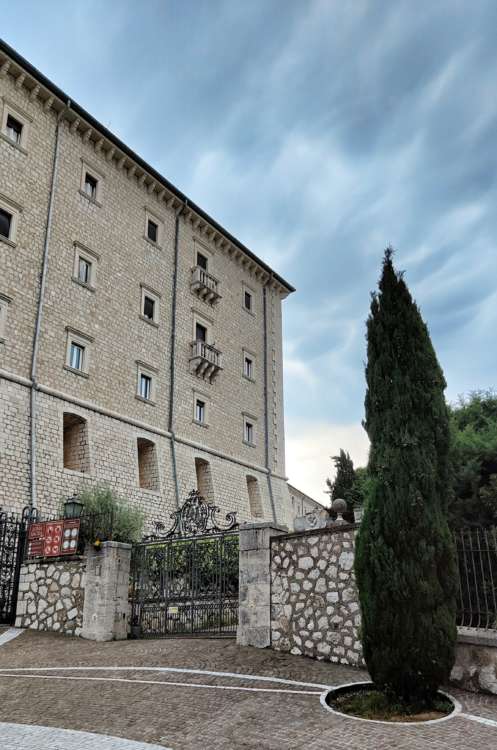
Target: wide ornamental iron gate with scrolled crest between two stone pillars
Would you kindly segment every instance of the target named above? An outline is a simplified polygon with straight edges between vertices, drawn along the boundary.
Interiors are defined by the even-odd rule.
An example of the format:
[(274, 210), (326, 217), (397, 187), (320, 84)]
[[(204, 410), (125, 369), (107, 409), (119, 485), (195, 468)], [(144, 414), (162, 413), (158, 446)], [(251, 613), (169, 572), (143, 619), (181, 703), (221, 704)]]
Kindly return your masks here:
[(193, 490), (174, 523), (135, 545), (131, 628), (135, 638), (231, 636), (238, 624), (238, 523)]

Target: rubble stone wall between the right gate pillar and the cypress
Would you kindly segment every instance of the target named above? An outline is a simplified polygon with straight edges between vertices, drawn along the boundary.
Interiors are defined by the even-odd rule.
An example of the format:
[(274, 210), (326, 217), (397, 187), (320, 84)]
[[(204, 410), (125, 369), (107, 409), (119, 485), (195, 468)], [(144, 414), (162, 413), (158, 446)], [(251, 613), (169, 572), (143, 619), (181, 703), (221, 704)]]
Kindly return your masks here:
[(278, 651), (362, 666), (354, 575), (356, 527), (284, 535), (271, 544), (271, 642)]

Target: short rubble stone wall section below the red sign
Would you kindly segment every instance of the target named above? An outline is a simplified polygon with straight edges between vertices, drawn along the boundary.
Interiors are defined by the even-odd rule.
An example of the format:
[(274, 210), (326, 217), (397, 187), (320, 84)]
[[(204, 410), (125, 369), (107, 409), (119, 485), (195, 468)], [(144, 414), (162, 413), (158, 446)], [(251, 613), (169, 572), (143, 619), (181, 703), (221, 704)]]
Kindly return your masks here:
[(21, 567), (16, 627), (79, 636), (86, 561), (28, 562)]

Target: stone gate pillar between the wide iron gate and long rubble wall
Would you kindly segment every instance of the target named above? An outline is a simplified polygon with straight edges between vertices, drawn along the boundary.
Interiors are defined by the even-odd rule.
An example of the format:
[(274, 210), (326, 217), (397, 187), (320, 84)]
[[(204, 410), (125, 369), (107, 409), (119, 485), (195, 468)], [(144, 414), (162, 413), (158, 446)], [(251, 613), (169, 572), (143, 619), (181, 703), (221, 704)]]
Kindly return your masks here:
[(271, 645), (271, 542), (287, 534), (272, 521), (240, 525), (240, 600), (237, 643), (266, 648)]

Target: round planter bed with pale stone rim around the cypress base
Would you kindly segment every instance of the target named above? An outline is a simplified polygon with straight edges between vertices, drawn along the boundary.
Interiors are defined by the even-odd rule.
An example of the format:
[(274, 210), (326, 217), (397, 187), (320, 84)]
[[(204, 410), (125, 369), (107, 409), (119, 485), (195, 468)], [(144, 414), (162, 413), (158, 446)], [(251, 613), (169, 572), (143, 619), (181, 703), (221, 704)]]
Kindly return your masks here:
[(382, 724), (426, 724), (446, 721), (461, 710), (459, 703), (441, 690), (430, 707), (391, 704), (372, 682), (354, 682), (332, 688), (323, 694), (321, 702), (332, 713)]

